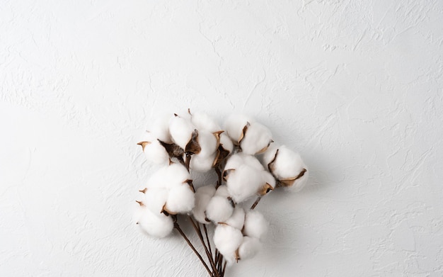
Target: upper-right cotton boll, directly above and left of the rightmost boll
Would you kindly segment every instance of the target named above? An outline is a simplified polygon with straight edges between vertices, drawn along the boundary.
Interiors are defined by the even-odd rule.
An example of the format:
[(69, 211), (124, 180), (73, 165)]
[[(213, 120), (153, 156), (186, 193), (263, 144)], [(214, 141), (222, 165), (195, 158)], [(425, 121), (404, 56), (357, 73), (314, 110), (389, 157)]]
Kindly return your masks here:
[(271, 142), (271, 131), (260, 123), (252, 123), (241, 140), (240, 147), (243, 153), (256, 154), (265, 151)]

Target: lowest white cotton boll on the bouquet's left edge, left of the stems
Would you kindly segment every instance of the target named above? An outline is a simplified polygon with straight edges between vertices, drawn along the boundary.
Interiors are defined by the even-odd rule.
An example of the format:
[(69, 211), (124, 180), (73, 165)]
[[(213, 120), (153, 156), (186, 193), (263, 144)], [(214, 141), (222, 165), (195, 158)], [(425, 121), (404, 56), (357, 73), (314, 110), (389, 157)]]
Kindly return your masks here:
[(152, 237), (166, 237), (171, 234), (174, 227), (170, 216), (153, 213), (143, 203), (137, 207), (134, 220), (143, 232)]

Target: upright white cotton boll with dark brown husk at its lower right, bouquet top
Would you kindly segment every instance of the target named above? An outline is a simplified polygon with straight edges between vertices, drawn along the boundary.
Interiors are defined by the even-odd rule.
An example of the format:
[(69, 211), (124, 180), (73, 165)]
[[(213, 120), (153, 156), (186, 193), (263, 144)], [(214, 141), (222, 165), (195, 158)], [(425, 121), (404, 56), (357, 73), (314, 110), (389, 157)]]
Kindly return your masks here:
[(173, 142), (182, 147), (186, 152), (200, 152), (195, 141), (198, 132), (189, 119), (176, 115), (169, 123), (169, 132)]

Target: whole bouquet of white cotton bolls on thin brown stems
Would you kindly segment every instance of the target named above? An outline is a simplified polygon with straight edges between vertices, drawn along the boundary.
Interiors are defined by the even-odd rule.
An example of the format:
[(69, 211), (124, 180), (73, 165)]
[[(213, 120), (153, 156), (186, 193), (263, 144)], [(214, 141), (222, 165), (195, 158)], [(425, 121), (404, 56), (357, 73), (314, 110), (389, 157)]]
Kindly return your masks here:
[[(224, 276), (226, 265), (260, 250), (268, 223), (255, 207), (263, 196), (280, 188), (299, 191), (308, 179), (300, 155), (276, 145), (268, 128), (245, 115), (231, 115), (224, 129), (205, 113), (161, 116), (139, 145), (159, 169), (140, 190), (135, 222), (152, 237), (166, 237), (175, 229), (209, 276)], [(217, 174), (217, 181), (193, 183), (191, 171)], [(181, 229), (183, 217), (203, 254)]]

